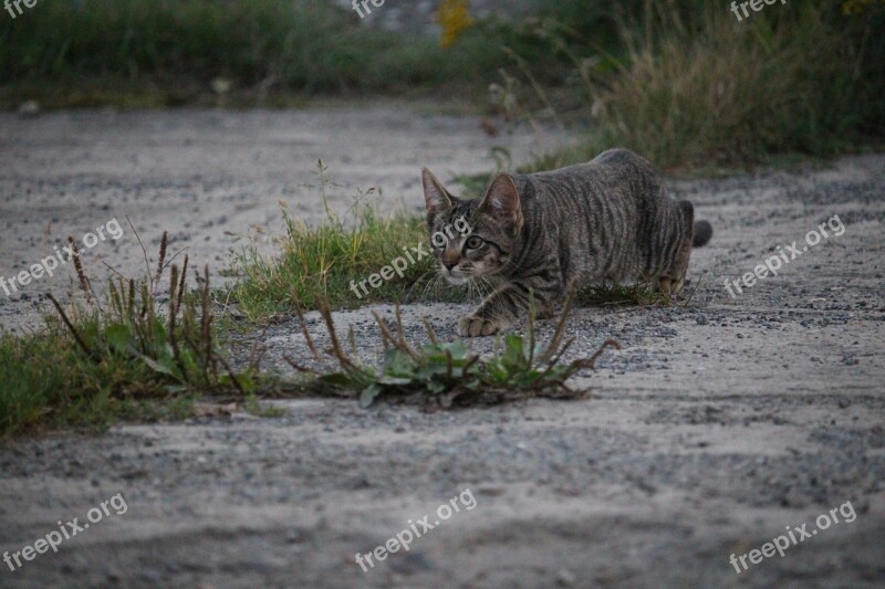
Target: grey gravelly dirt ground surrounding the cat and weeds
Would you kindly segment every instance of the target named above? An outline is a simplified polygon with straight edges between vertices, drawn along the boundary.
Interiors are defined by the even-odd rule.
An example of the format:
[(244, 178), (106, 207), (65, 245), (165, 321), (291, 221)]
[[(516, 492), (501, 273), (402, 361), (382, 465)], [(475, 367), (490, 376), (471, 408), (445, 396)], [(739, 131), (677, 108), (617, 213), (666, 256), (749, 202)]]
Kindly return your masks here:
[[(488, 171), (494, 145), (522, 158), (556, 140), (491, 138), (477, 117), (405, 106), (4, 114), (0, 275), (126, 214), (146, 241), (169, 230), (218, 272), (236, 234), (279, 229), (279, 199), (319, 219), (303, 187), (319, 158), (345, 187), (377, 186), (418, 209), (421, 166), (447, 179)], [(882, 587), (885, 156), (670, 185), (716, 231), (693, 254), (694, 294), (670, 307), (579, 308), (573, 356), (608, 337), (623, 345), (575, 379), (587, 399), (450, 412), (304, 399), (277, 401), (279, 418), (19, 440), (0, 449), (0, 551), (34, 545), (56, 522), (82, 526), (117, 493), (126, 508), (58, 554), (14, 571), (0, 562), (0, 586)], [(777, 276), (728, 294), (726, 278), (778, 246), (801, 251), (833, 215), (840, 235), (826, 229)], [(142, 252), (124, 229), (88, 255), (136, 273)], [(0, 292), (0, 324), (33, 325), (40, 293), (69, 286), (37, 282)], [(407, 328), (428, 317), (451, 338), (468, 309), (410, 305)], [(368, 311), (335, 317), (371, 355)], [(540, 329), (549, 336), (551, 322)], [(280, 370), (283, 355), (304, 353), (291, 320), (262, 340)], [(439, 506), (454, 497), (476, 503), (446, 518)], [(425, 515), (433, 529), (421, 533)], [(421, 533), (407, 551), (362, 570), (357, 553), (406, 529)], [(753, 556), (790, 534), (783, 556)]]

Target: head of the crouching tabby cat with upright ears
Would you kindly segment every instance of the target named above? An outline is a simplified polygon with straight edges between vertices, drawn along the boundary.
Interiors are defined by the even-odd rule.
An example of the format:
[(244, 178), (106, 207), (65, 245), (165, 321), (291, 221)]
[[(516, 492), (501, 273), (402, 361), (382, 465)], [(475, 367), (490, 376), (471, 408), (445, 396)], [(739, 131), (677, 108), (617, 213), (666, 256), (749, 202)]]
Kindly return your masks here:
[(481, 199), (455, 198), (425, 168), (421, 172), (430, 248), (439, 274), (452, 284), (500, 272), (522, 228), (513, 179), (502, 173)]

